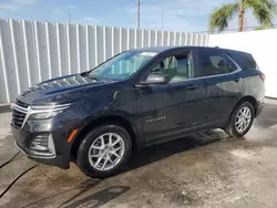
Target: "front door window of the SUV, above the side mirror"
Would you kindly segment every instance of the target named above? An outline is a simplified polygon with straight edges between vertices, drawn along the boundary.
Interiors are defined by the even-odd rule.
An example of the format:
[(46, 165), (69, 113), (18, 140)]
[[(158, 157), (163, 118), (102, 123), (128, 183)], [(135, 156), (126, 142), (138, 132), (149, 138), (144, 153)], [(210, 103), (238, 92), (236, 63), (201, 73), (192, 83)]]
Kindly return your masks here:
[(194, 77), (193, 56), (191, 52), (171, 55), (158, 62), (152, 74), (163, 74), (168, 76), (170, 83), (183, 82)]

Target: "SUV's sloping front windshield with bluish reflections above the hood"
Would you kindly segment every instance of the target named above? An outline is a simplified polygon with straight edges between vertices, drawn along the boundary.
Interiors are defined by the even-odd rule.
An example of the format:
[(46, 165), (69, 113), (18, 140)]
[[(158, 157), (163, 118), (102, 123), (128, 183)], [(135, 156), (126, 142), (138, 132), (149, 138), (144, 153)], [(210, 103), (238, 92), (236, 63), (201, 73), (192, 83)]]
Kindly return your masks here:
[(96, 66), (89, 73), (89, 77), (96, 80), (125, 80), (135, 74), (156, 54), (156, 52), (143, 51), (123, 52)]

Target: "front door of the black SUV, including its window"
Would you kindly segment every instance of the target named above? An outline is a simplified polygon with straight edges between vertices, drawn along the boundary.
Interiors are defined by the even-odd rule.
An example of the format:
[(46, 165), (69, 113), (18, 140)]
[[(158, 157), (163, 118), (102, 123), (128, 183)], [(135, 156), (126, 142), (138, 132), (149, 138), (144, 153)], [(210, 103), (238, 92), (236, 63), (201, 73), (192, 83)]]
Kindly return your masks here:
[(197, 129), (201, 90), (192, 87), (197, 85), (197, 81), (191, 80), (193, 65), (192, 51), (178, 51), (151, 69), (150, 74), (167, 75), (170, 82), (141, 89), (142, 122), (147, 144), (181, 137)]

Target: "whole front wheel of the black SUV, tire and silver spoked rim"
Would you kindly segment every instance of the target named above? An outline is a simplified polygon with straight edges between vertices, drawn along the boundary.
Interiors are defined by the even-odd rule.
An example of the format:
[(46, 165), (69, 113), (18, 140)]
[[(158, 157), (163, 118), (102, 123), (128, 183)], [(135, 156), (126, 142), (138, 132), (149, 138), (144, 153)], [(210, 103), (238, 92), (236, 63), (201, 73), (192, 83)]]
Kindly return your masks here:
[[(117, 144), (115, 143), (113, 147), (109, 143), (111, 134), (113, 135), (112, 143), (115, 143), (116, 139), (120, 141), (117, 142)], [(104, 138), (104, 144), (109, 143), (107, 145), (105, 145), (104, 148), (102, 145), (103, 141), (101, 139), (101, 136), (103, 136)], [(119, 146), (124, 146), (123, 147), (124, 150)], [(115, 154), (113, 155), (111, 153), (114, 152), (113, 149), (116, 148), (121, 148), (122, 150), (122, 152), (121, 150), (116, 152), (117, 156), (121, 155), (121, 158), (119, 157), (120, 159), (112, 163), (111, 160), (116, 158), (116, 156)], [(121, 169), (121, 167), (123, 167), (123, 165), (127, 162), (131, 150), (132, 150), (131, 137), (126, 129), (124, 129), (119, 125), (113, 125), (113, 124), (102, 125), (88, 133), (86, 136), (83, 138), (78, 149), (76, 165), (89, 177), (96, 177), (96, 178), (110, 177), (116, 174)], [(89, 153), (95, 155), (95, 157), (89, 158)], [(96, 157), (98, 155), (101, 156)], [(100, 159), (102, 156), (103, 158)], [(100, 159), (99, 165), (96, 165), (98, 159)], [(109, 164), (110, 167), (107, 166)], [(101, 165), (102, 167), (104, 166), (104, 169), (102, 169)]]

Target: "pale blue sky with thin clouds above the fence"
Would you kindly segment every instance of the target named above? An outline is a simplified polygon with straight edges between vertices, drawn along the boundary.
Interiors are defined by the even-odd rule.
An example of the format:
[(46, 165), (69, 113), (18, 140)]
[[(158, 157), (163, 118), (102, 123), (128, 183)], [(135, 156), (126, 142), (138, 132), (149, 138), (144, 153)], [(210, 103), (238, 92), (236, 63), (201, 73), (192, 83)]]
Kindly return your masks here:
[[(234, 1), (141, 0), (141, 28), (161, 30), (163, 13), (163, 30), (207, 31), (209, 13)], [(69, 12), (71, 23), (135, 28), (137, 0), (0, 0), (0, 18), (69, 22)], [(237, 28), (237, 18), (232, 20), (229, 28)], [(248, 12), (246, 27), (255, 25)]]

